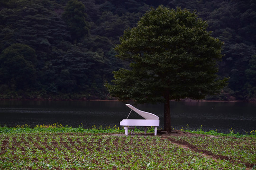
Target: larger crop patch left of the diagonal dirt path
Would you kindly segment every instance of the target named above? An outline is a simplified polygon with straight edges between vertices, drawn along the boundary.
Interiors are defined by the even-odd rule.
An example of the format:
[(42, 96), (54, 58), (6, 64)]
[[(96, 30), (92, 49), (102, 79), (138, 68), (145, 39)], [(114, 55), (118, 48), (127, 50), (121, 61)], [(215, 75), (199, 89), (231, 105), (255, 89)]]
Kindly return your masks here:
[(161, 136), (2, 133), (0, 146), (1, 170), (246, 169), (243, 163), (209, 159)]

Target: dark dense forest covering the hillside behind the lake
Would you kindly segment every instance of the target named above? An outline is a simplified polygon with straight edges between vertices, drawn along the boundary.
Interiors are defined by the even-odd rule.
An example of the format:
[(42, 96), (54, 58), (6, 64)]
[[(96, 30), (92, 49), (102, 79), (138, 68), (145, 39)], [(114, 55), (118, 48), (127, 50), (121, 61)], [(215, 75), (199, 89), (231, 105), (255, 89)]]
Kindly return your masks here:
[(255, 0), (0, 0), (0, 99), (109, 99), (113, 50), (151, 7), (196, 10), (224, 42), (208, 100), (256, 101)]

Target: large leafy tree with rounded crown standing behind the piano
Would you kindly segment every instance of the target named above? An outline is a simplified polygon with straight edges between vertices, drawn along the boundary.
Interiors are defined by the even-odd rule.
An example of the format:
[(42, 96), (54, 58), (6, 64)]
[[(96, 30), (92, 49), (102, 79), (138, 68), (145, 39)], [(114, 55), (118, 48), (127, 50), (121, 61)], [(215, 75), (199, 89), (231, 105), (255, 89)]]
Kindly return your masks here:
[(216, 74), (223, 42), (207, 26), (195, 11), (151, 8), (120, 37), (117, 57), (130, 68), (114, 72), (110, 94), (120, 101), (164, 102), (164, 129), (170, 132), (170, 100), (203, 99), (226, 85), (227, 78)]

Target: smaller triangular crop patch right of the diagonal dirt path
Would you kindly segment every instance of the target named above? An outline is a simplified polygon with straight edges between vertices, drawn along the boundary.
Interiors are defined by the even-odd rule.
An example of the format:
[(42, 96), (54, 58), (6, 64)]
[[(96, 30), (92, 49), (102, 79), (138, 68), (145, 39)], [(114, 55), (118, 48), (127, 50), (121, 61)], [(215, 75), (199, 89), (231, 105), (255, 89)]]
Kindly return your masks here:
[(169, 136), (176, 143), (188, 144), (198, 151), (221, 156), (234, 163), (244, 163), (248, 167), (256, 165), (255, 137), (216, 137), (216, 136)]

